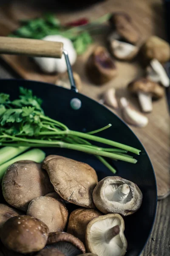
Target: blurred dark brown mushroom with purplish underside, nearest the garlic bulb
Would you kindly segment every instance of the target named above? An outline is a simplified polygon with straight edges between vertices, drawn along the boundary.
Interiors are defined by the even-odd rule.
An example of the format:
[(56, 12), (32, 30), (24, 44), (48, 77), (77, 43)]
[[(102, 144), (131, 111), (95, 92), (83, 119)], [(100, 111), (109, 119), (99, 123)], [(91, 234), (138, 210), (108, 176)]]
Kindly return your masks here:
[(86, 70), (94, 84), (104, 84), (117, 75), (116, 65), (105, 47), (98, 46), (89, 57)]

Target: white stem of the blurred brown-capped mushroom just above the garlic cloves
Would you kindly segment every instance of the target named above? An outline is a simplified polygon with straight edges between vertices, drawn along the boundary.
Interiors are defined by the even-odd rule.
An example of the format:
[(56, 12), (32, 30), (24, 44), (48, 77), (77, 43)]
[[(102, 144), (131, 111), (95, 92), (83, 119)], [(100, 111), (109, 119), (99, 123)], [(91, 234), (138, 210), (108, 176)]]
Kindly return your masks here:
[(150, 94), (139, 92), (138, 99), (143, 112), (148, 113), (152, 111), (152, 97)]

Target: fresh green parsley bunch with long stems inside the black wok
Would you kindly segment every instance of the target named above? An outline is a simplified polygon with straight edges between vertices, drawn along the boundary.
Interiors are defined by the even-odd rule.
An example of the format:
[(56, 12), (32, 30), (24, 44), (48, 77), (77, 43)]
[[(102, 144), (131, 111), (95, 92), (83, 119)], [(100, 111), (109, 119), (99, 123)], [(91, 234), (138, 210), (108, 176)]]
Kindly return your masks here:
[[(31, 90), (23, 87), (20, 87), (19, 99), (14, 101), (10, 100), (8, 94), (1, 93), (0, 145), (60, 147), (78, 150), (95, 155), (113, 173), (116, 173), (116, 170), (104, 157), (129, 163), (137, 162), (132, 156), (127, 155), (127, 151), (139, 154), (140, 150), (93, 135), (111, 127), (110, 124), (89, 133), (72, 131), (63, 123), (45, 116), (41, 104), (41, 99), (34, 96)], [(98, 147), (89, 140), (112, 147)]]

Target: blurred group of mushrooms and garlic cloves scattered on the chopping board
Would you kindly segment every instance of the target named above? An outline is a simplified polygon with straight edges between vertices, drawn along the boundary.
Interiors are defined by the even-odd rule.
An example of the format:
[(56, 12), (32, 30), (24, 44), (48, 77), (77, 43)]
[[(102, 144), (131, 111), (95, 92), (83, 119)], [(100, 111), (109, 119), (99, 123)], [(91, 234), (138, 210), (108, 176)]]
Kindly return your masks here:
[(111, 32), (108, 43), (111, 55), (105, 47), (96, 47), (86, 64), (88, 77), (94, 84), (104, 84), (119, 72), (112, 57), (120, 61), (131, 61), (138, 55), (139, 62), (144, 64), (145, 75), (127, 81), (125, 89), (137, 95), (143, 113), (133, 107), (125, 95), (118, 98), (113, 86), (102, 93), (99, 103), (120, 110), (119, 113), (122, 113), (122, 118), (128, 124), (142, 128), (149, 122), (144, 114), (153, 110), (153, 100), (161, 99), (164, 96), (164, 87), (170, 86), (170, 78), (164, 68), (164, 64), (170, 59), (170, 45), (157, 36), (150, 36), (144, 41), (131, 17), (125, 12), (114, 12), (109, 22)]

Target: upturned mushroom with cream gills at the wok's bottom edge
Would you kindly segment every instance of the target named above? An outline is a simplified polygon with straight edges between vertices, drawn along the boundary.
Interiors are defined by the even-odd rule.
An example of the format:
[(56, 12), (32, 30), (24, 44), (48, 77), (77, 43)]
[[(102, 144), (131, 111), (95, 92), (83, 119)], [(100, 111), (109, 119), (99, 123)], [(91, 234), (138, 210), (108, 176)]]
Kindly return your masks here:
[(125, 223), (119, 214), (107, 214), (94, 218), (86, 230), (86, 247), (98, 256), (124, 256), (127, 240)]

